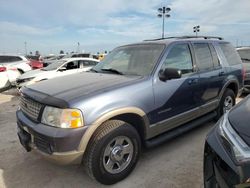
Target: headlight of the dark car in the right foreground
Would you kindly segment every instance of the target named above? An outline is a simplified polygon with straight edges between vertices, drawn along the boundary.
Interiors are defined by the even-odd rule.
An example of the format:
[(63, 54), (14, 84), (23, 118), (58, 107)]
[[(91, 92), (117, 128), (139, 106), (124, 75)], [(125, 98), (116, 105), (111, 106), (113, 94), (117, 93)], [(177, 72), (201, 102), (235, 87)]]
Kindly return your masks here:
[(250, 147), (236, 133), (228, 121), (228, 113), (224, 115), (219, 124), (220, 135), (227, 140), (238, 162), (250, 160)]

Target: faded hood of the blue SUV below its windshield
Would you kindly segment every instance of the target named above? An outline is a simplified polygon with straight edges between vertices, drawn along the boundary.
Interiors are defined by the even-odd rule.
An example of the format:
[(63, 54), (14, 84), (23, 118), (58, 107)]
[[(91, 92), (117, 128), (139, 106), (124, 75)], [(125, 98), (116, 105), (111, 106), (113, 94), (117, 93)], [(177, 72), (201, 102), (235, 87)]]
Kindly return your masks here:
[[(45, 104), (48, 103), (43, 99), (48, 97), (53, 97), (69, 103), (69, 101), (78, 97), (88, 97), (110, 91), (111, 89), (135, 82), (136, 80), (141, 80), (141, 78), (141, 76), (127, 77), (114, 74), (81, 72), (24, 87), (22, 88), (22, 92)], [(35, 97), (35, 93), (40, 93), (38, 94), (40, 95), (38, 97), (39, 99)], [(44, 95), (44, 97), (42, 97), (42, 95)], [(58, 106), (58, 104), (56, 106)]]

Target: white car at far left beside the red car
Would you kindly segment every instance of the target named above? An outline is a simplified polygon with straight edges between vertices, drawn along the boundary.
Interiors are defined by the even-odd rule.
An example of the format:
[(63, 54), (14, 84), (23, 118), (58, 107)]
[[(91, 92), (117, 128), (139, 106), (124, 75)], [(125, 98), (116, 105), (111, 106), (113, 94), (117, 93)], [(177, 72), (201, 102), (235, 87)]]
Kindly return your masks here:
[(7, 69), (16, 68), (20, 74), (31, 70), (30, 61), (22, 55), (0, 55), (0, 64)]

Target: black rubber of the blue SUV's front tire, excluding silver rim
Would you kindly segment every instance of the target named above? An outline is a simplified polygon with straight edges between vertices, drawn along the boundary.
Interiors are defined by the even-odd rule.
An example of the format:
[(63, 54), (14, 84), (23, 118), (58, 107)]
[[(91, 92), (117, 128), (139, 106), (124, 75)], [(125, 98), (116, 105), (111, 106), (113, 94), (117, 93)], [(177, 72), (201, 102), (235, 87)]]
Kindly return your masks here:
[[(130, 164), (120, 173), (111, 174), (103, 166), (103, 154), (108, 143), (117, 136), (127, 136), (133, 143), (134, 153)], [(121, 181), (127, 177), (134, 169), (139, 155), (141, 142), (136, 130), (129, 124), (122, 125), (101, 138), (94, 148), (94, 157), (92, 160), (92, 172), (94, 177), (101, 183), (109, 185)]]

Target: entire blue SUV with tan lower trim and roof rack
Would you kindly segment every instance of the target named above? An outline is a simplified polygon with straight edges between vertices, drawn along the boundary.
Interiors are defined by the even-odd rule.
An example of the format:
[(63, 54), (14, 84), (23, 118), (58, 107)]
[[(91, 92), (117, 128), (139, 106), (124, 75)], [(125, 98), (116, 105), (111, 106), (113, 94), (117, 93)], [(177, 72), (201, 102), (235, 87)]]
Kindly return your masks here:
[(84, 163), (103, 184), (125, 178), (152, 147), (218, 119), (243, 86), (242, 63), (219, 37), (173, 37), (114, 49), (87, 73), (21, 89), (27, 151)]

